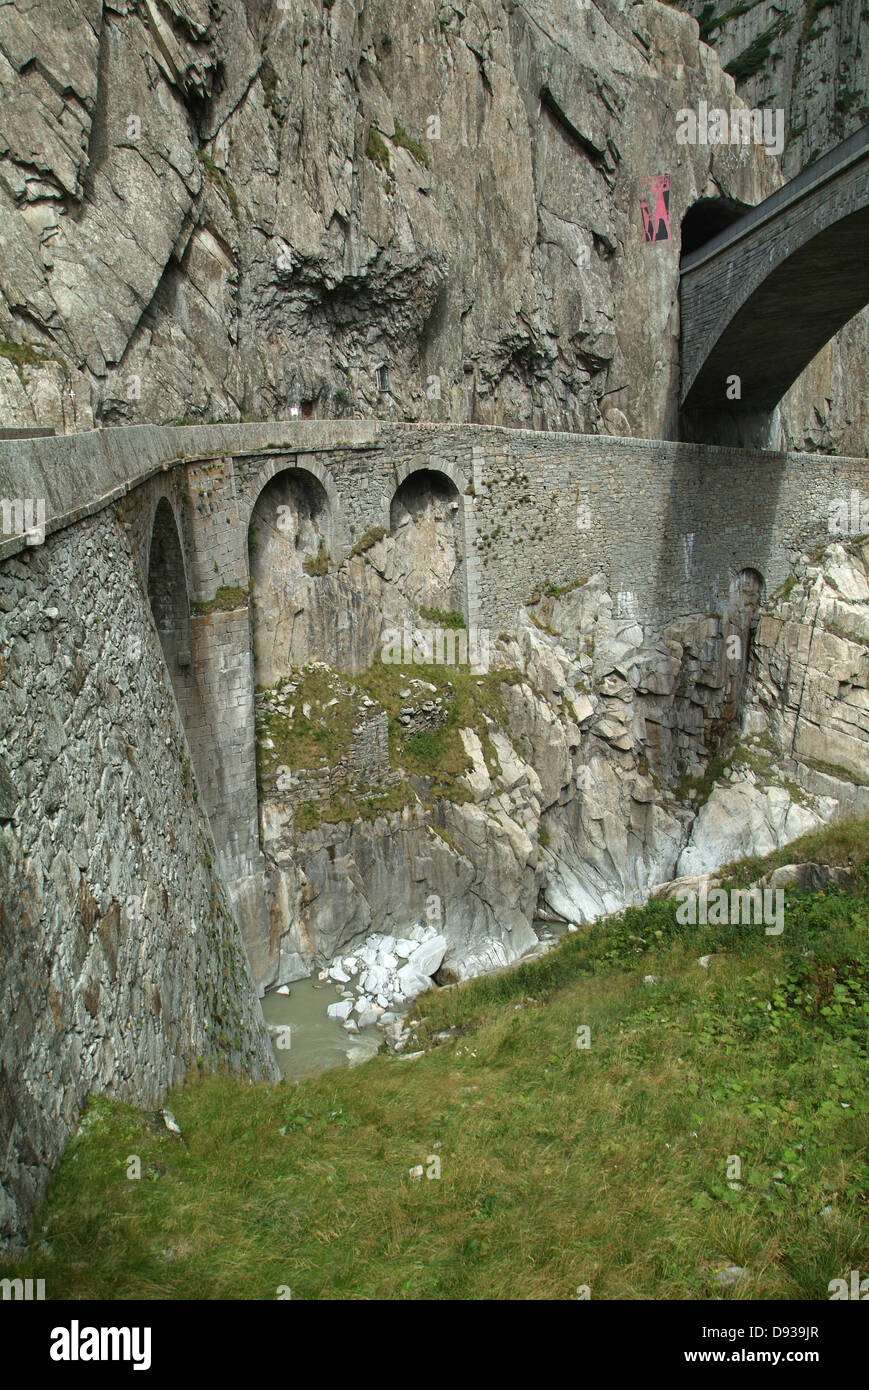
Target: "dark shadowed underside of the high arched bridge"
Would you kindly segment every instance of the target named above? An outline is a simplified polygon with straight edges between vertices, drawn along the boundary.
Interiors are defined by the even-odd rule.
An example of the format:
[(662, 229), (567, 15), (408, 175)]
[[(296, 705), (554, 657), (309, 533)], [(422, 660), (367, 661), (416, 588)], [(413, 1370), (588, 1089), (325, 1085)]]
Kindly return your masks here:
[[(758, 436), (781, 396), (869, 303), (868, 243), (869, 208), (861, 208), (819, 232), (766, 277), (690, 384), (681, 406), (683, 438), (765, 442)], [(740, 378), (738, 400), (727, 399), (733, 377)]]

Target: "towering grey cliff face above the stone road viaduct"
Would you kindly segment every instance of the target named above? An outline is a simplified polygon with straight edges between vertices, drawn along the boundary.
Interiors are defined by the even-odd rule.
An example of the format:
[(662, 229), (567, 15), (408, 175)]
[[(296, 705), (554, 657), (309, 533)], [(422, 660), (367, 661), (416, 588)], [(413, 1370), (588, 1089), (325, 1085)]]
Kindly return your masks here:
[[(0, 7), (4, 424), (342, 416), (670, 436), (679, 222), (762, 152), (659, 4)], [(642, 240), (669, 174), (673, 240)]]

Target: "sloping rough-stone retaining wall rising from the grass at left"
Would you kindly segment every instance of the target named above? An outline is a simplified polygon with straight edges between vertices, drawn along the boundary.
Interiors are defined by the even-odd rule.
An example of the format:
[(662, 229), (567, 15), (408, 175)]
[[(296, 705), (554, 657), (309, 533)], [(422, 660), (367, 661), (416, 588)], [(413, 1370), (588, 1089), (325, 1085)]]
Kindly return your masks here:
[(188, 1070), (277, 1073), (111, 513), (3, 566), (0, 669), (3, 1247), (89, 1094), (153, 1109)]

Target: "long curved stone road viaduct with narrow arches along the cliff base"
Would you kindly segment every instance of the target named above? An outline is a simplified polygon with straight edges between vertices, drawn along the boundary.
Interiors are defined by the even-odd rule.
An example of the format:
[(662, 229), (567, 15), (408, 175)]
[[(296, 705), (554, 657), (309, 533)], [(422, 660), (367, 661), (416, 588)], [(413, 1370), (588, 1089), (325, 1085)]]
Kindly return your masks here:
[[(139, 595), (140, 617), (128, 631), (104, 632), (95, 657), (121, 671), (143, 649), (152, 664), (163, 662), (260, 984), (274, 962), (259, 835), (249, 528), (286, 477), (309, 489), (332, 573), (366, 532), (391, 528), (409, 480), (434, 480), (452, 498), (457, 606), (469, 626), (494, 635), (514, 632), (521, 606), (548, 584), (595, 573), (626, 623), (653, 628), (720, 613), (736, 575), (749, 567), (768, 588), (781, 584), (794, 559), (827, 537), (830, 505), (854, 489), (869, 493), (866, 460), (480, 425), (142, 425), (0, 442), (0, 498), (18, 502), (21, 516), (25, 503), (44, 503), (44, 538), (0, 537), (0, 577), (11, 574), (22, 594), (60, 588), (75, 605), (60, 542), (81, 531), (85, 549), (124, 575), (124, 592)], [(117, 626), (129, 621), (128, 612)], [(33, 681), (36, 692), (39, 671)], [(0, 680), (0, 706), (7, 694)], [(11, 726), (0, 719), (4, 737), (25, 708), (13, 708)], [(19, 733), (24, 745), (25, 726)], [(32, 813), (0, 808), (7, 820)]]

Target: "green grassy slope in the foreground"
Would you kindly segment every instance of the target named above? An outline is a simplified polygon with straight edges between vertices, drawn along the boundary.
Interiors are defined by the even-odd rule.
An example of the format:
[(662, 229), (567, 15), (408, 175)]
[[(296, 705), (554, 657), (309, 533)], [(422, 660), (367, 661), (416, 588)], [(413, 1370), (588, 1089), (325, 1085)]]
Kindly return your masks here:
[(93, 1101), (4, 1275), (76, 1300), (826, 1300), (869, 1254), (869, 821), (761, 865), (843, 852), (854, 894), (788, 891), (779, 938), (630, 909), (423, 995), (420, 1045), (456, 1034), (413, 1062), (190, 1083), (184, 1141)]

